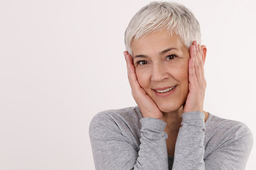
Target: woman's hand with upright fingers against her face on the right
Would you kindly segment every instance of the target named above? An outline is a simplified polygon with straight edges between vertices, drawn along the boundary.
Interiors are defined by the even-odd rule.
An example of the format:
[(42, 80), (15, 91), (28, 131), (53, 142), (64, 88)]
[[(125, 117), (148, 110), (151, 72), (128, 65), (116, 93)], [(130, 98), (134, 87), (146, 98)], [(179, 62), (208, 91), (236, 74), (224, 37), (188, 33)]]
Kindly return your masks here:
[(206, 59), (206, 46), (200, 46), (196, 41), (193, 41), (189, 52), (191, 56), (188, 61), (189, 93), (183, 113), (191, 111), (203, 112), (203, 101), (206, 91), (203, 65)]

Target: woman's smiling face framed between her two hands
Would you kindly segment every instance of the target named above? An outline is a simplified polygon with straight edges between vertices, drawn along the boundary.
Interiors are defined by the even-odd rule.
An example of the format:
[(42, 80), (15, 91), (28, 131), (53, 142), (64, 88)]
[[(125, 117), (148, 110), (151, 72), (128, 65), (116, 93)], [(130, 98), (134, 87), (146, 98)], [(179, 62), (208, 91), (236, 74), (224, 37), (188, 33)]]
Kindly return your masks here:
[(189, 51), (173, 33), (150, 33), (132, 41), (135, 72), (142, 89), (169, 113), (181, 108), (188, 96)]

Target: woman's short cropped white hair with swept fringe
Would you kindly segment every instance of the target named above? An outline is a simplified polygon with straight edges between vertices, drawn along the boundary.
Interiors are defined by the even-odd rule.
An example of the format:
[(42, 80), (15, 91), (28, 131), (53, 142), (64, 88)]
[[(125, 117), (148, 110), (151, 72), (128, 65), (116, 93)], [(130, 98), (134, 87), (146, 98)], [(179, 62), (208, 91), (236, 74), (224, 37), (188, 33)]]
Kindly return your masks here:
[(132, 55), (132, 40), (161, 30), (178, 35), (187, 48), (194, 40), (201, 44), (199, 23), (186, 6), (174, 2), (154, 1), (141, 8), (125, 30), (124, 44), (129, 54)]

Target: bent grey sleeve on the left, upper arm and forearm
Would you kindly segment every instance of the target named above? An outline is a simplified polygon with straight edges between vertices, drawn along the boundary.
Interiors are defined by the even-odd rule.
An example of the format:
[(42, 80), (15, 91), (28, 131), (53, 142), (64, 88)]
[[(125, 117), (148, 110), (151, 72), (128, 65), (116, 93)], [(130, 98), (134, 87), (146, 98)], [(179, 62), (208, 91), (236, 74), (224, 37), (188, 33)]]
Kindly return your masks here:
[[(97, 114), (90, 123), (90, 140), (97, 170), (168, 169), (166, 123), (154, 118), (142, 118), (140, 145), (137, 148), (127, 134), (134, 134), (129, 125), (109, 115)], [(129, 131), (129, 132), (128, 132)], [(135, 138), (134, 138), (135, 139)]]

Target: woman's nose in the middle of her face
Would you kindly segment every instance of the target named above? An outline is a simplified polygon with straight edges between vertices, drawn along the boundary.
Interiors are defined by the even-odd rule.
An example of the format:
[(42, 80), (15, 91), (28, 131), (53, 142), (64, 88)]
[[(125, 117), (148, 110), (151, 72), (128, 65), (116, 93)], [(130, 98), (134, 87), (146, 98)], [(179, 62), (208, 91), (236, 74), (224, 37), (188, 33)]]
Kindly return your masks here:
[(151, 73), (151, 81), (164, 81), (165, 79), (168, 79), (168, 72), (164, 65), (154, 64)]

